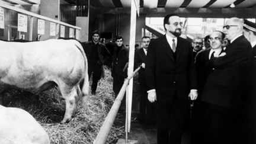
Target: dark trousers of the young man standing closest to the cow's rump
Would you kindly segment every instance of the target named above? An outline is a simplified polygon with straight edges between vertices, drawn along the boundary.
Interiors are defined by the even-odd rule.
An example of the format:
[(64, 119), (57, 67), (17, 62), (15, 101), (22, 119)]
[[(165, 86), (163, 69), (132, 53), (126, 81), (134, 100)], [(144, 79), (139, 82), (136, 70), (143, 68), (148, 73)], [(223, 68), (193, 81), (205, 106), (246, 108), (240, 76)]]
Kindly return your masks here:
[(101, 79), (101, 65), (88, 65), (88, 76), (91, 78), (92, 75), (92, 85), (91, 85), (91, 92), (92, 94), (95, 94), (98, 81)]

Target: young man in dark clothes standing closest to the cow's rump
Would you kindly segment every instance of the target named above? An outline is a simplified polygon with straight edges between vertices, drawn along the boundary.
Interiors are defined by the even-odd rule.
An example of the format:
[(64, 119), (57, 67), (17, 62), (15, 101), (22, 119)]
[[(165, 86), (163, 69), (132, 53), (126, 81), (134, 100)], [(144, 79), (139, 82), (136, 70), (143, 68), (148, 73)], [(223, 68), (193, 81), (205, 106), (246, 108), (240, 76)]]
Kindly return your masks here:
[(104, 44), (100, 43), (100, 31), (92, 33), (92, 41), (82, 43), (88, 60), (88, 76), (92, 75), (91, 94), (96, 93), (98, 81), (104, 73), (103, 65), (110, 60), (110, 52)]

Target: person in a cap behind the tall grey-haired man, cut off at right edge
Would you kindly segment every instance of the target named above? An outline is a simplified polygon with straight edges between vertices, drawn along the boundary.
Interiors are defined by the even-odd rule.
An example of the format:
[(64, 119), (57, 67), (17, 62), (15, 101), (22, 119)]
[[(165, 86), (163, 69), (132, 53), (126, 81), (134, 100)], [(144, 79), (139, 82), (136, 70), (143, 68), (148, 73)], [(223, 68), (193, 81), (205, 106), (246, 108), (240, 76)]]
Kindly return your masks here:
[[(245, 130), (244, 137), (246, 143), (256, 143), (256, 24), (251, 21), (244, 20), (245, 38), (251, 43), (252, 46), (252, 60), (247, 66), (247, 72), (244, 75), (248, 75), (247, 80), (247, 105), (245, 107)], [(253, 89), (253, 90), (252, 90)]]

